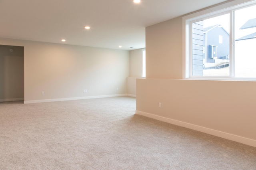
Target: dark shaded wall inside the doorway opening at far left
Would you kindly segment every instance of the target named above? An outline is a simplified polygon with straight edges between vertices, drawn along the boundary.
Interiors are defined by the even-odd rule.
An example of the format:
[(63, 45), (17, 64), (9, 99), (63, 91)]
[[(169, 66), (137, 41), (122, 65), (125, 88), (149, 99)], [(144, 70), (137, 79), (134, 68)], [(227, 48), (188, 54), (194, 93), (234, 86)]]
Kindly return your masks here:
[(24, 48), (0, 45), (0, 102), (17, 100), (24, 100)]

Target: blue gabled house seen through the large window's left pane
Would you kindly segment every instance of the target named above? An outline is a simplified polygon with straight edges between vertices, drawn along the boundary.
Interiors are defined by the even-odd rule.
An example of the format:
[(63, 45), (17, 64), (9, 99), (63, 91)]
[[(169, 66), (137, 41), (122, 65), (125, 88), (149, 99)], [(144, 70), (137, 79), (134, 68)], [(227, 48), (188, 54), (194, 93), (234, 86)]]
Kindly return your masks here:
[[(204, 68), (229, 62), (229, 34), (220, 25), (204, 28)], [(228, 66), (228, 65), (226, 65)]]

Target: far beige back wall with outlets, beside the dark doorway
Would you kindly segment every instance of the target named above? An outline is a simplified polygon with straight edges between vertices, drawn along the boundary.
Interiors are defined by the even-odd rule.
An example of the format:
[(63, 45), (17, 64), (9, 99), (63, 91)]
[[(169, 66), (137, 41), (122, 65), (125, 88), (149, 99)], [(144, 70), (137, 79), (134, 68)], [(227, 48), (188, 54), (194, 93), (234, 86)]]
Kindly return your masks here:
[(25, 101), (126, 94), (129, 51), (4, 38), (0, 44), (24, 46)]

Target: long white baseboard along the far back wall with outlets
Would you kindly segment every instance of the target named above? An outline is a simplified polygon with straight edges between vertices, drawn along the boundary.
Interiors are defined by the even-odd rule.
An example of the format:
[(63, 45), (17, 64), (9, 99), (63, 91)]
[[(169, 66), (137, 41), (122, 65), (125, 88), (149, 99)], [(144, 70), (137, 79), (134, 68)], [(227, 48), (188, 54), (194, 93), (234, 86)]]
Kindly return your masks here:
[(119, 95), (102, 95), (102, 96), (87, 96), (87, 97), (70, 97), (70, 98), (45, 99), (45, 100), (30, 100), (30, 101), (24, 101), (24, 104), (29, 104), (29, 103), (45, 103), (45, 102), (53, 102), (53, 101), (81, 100), (81, 99), (96, 99), (96, 98), (104, 98), (104, 97), (120, 97), (120, 96), (127, 96), (127, 94), (119, 94)]

